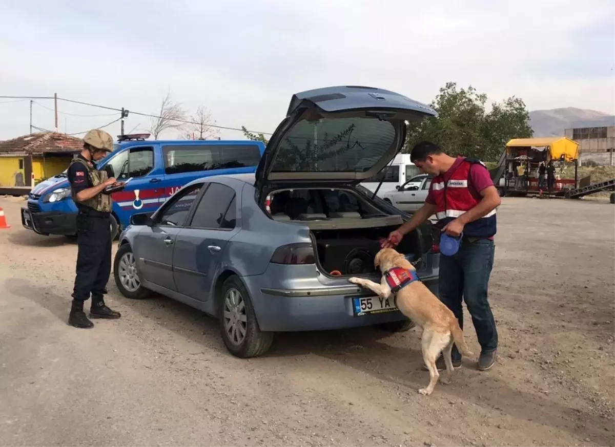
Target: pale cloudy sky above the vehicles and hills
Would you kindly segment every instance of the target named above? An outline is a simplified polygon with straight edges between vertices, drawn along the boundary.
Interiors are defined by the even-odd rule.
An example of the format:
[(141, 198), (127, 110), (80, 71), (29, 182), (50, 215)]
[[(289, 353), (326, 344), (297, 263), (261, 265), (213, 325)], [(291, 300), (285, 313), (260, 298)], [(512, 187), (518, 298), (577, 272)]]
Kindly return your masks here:
[[(170, 91), (188, 115), (205, 106), (216, 125), (258, 132), (275, 130), (293, 93), (331, 85), (430, 103), (456, 82), (490, 102), (615, 114), (613, 0), (0, 0), (0, 17), (0, 96), (156, 114)], [(33, 125), (53, 130), (53, 107), (34, 99)], [(58, 112), (77, 136), (119, 118), (65, 101)], [(125, 131), (150, 126), (129, 115)], [(0, 139), (29, 132), (30, 101), (0, 98)]]

